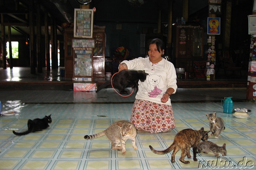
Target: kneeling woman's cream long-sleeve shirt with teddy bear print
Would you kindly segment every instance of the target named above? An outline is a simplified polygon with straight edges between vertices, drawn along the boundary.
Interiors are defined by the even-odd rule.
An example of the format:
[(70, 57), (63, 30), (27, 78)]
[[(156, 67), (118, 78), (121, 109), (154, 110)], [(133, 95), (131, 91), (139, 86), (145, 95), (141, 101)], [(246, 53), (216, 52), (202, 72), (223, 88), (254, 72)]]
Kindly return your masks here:
[(148, 57), (139, 57), (129, 61), (124, 60), (122, 63), (125, 63), (129, 70), (145, 70), (148, 73), (144, 82), (139, 81), (136, 99), (171, 105), (170, 98), (166, 103), (161, 102), (161, 98), (168, 88), (174, 89), (173, 94), (177, 90), (176, 70), (171, 62), (162, 58), (161, 61), (153, 64)]

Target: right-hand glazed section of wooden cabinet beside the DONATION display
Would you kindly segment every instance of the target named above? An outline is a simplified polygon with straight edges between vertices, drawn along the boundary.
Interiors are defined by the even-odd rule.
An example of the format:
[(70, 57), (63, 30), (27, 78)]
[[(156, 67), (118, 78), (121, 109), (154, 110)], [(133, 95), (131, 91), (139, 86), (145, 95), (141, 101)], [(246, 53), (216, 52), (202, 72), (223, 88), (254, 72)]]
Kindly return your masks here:
[(93, 50), (93, 77), (105, 76), (105, 27), (93, 28), (95, 48)]

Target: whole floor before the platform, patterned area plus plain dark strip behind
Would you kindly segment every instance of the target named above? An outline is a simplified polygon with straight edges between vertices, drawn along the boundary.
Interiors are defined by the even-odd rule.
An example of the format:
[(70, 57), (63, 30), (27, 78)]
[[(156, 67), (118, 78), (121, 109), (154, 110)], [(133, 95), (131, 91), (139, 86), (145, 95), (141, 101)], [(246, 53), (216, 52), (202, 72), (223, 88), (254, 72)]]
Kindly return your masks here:
[[(233, 96), (233, 108), (252, 110), (250, 117), (236, 118), (223, 113), (220, 101), (228, 96)], [(97, 94), (61, 90), (0, 91), (3, 111), (18, 111), (12, 116), (0, 116), (0, 169), (193, 170), (232, 166), (233, 169), (255, 169), (256, 103), (242, 102), (245, 97), (246, 89), (243, 88), (178, 89), (171, 96), (176, 127), (167, 133), (139, 131), (136, 138), (138, 150), (134, 150), (128, 140), (127, 153), (122, 155), (121, 151), (111, 149), (105, 136), (92, 140), (83, 137), (103, 131), (115, 121), (130, 120), (134, 94), (121, 97), (112, 89)], [(211, 137), (209, 140), (219, 146), (226, 143), (227, 156), (217, 158), (213, 153), (200, 153), (197, 154), (198, 161), (185, 158), (190, 164), (183, 164), (179, 161), (180, 151), (175, 163), (171, 163), (172, 152), (157, 155), (150, 151), (148, 145), (157, 150), (166, 149), (182, 129), (204, 127), (209, 130), (205, 114), (215, 111), (225, 121), (226, 129), (218, 139)], [(12, 130), (26, 130), (28, 119), (50, 114), (53, 121), (48, 129), (24, 136), (12, 133)], [(190, 152), (192, 154), (192, 150)]]

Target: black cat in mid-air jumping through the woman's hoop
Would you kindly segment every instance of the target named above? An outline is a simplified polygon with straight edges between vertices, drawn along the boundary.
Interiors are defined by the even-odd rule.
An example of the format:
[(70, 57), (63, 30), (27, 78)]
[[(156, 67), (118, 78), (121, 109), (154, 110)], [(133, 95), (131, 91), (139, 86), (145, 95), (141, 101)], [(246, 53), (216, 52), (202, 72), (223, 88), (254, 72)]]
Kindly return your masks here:
[[(118, 89), (120, 93), (128, 93), (129, 85), (132, 86), (132, 89), (136, 88), (136, 93), (138, 92), (138, 82), (139, 80), (144, 82), (147, 78), (148, 73), (145, 73), (145, 70), (122, 70), (115, 74), (112, 78), (112, 84), (115, 89)], [(110, 88), (111, 81), (106, 81), (102, 84), (97, 90), (98, 93), (103, 88)]]

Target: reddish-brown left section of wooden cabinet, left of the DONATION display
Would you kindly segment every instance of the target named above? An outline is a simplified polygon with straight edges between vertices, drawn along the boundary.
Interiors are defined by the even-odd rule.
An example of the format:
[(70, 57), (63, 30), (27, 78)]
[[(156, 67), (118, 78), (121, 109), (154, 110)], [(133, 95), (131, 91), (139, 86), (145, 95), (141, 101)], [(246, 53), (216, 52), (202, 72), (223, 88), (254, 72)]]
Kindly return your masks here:
[(65, 77), (73, 77), (73, 55), (72, 39), (74, 35), (73, 28), (66, 28), (64, 31), (64, 54), (65, 54)]

